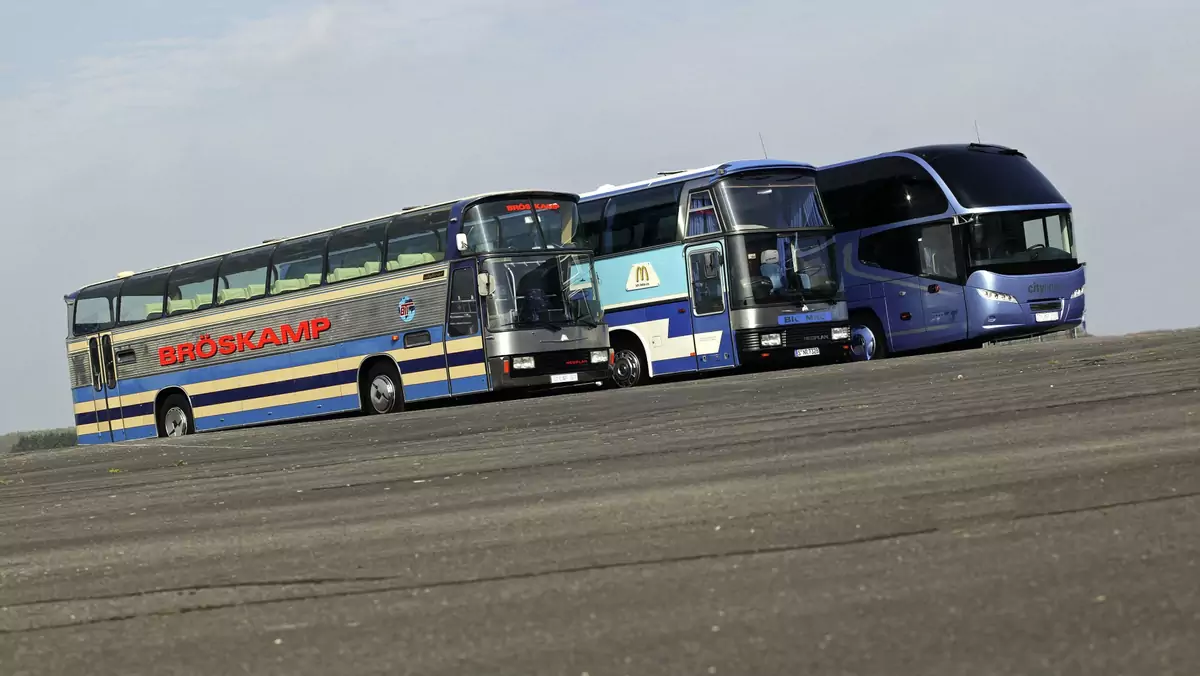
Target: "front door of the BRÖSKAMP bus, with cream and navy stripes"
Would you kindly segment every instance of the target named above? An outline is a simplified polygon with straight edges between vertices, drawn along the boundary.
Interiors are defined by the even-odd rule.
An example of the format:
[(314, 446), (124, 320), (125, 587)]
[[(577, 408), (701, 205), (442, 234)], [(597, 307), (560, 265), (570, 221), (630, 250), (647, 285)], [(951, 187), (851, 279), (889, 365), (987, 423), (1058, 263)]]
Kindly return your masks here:
[(488, 390), (476, 270), (474, 259), (450, 268), (445, 346), (451, 395)]

